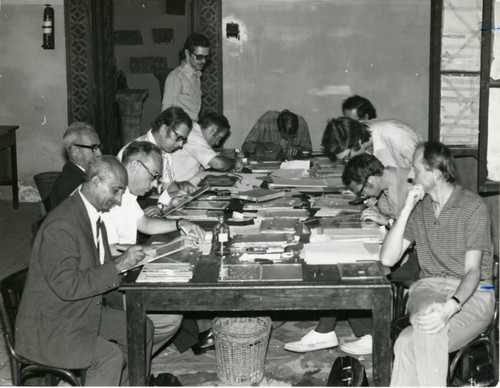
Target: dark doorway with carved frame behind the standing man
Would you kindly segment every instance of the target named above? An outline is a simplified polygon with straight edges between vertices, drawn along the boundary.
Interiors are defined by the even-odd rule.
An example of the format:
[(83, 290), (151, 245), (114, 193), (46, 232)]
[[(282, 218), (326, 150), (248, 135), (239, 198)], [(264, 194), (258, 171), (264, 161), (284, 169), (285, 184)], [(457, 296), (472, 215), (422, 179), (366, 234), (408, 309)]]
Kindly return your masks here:
[[(154, 65), (151, 65), (156, 62), (152, 60), (150, 65), (144, 65), (147, 61), (137, 61), (133, 66), (138, 67), (134, 67), (132, 71), (130, 58), (168, 55), (167, 68), (172, 69), (177, 66), (178, 52), (186, 36), (192, 31), (209, 38), (213, 53), (202, 78), (202, 110), (222, 113), (221, 0), (184, 0), (184, 15), (167, 14), (169, 4), (178, 2), (179, 0), (64, 0), (68, 122), (87, 121), (93, 124), (106, 153), (116, 154), (122, 146), (115, 104), (114, 81), (117, 71), (121, 66), (125, 69), (121, 70), (127, 75), (129, 88), (147, 88), (149, 91), (141, 121), (141, 129), (145, 131), (152, 118), (160, 113), (161, 107), (160, 83), (152, 72)], [(140, 28), (122, 23), (123, 20), (119, 20), (119, 23), (116, 21), (116, 28), (113, 26), (126, 7), (140, 8), (135, 15), (135, 19), (141, 19), (137, 20)], [(160, 8), (161, 15), (147, 16), (152, 9)], [(139, 17), (141, 13), (144, 20)], [(160, 16), (168, 17), (172, 24), (162, 22)], [(177, 28), (174, 22), (179, 23)], [(117, 30), (137, 31), (138, 28), (142, 45), (114, 45)], [(153, 35), (153, 29), (162, 31), (156, 31), (156, 35)], [(164, 37), (163, 40), (158, 38), (158, 33)], [(133, 34), (131, 42), (137, 42)], [(159, 41), (155, 43), (154, 39)], [(144, 42), (154, 48), (153, 55), (144, 49)]]

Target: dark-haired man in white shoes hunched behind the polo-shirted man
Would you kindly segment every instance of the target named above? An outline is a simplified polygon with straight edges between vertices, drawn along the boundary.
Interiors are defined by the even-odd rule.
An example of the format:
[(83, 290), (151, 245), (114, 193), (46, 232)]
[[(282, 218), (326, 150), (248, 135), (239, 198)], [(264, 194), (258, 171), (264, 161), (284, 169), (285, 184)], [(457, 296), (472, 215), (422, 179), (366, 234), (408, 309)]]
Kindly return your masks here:
[[(411, 184), (408, 182), (410, 169), (384, 167), (375, 156), (363, 153), (349, 160), (342, 174), (342, 182), (359, 196), (368, 197), (368, 206), (362, 213), (362, 220), (372, 220), (388, 228), (398, 217), (406, 193)], [(418, 278), (418, 264), (412, 257), (401, 268), (393, 269), (391, 278), (413, 280)], [(299, 341), (285, 344), (285, 349), (295, 352), (308, 352), (337, 346), (335, 333), (337, 317), (322, 317), (315, 330)], [(370, 316), (349, 318), (354, 335), (358, 340), (343, 343), (342, 351), (363, 355), (372, 353), (372, 326)]]

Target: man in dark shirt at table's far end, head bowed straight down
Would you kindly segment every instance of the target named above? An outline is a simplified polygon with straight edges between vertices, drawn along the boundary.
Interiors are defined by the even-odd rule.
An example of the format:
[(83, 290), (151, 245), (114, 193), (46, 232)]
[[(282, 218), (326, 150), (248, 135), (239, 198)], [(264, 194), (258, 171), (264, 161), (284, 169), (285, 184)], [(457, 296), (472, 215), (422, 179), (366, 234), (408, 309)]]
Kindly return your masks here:
[[(299, 155), (301, 151), (312, 151), (309, 128), (302, 116), (285, 109), (262, 115), (247, 135), (242, 151), (250, 158), (283, 160)], [(280, 154), (281, 151), (281, 154)]]

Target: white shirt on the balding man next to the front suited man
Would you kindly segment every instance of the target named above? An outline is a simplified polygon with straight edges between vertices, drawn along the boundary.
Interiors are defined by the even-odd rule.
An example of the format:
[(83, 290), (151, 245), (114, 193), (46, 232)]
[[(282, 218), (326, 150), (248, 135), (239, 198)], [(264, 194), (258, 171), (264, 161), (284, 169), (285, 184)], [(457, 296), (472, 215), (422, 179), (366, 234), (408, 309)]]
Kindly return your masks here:
[(109, 244), (135, 244), (137, 242), (137, 221), (144, 211), (137, 203), (137, 196), (128, 187), (122, 196), (122, 204), (103, 213)]

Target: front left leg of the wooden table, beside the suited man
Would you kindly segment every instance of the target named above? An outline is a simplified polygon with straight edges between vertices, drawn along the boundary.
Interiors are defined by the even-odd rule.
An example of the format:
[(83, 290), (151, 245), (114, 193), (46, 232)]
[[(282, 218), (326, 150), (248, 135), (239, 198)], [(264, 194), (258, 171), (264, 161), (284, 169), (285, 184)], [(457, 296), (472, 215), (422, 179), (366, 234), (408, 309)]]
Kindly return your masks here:
[(148, 366), (146, 356), (146, 310), (142, 307), (142, 292), (127, 292), (128, 368), (131, 386), (146, 386)]

